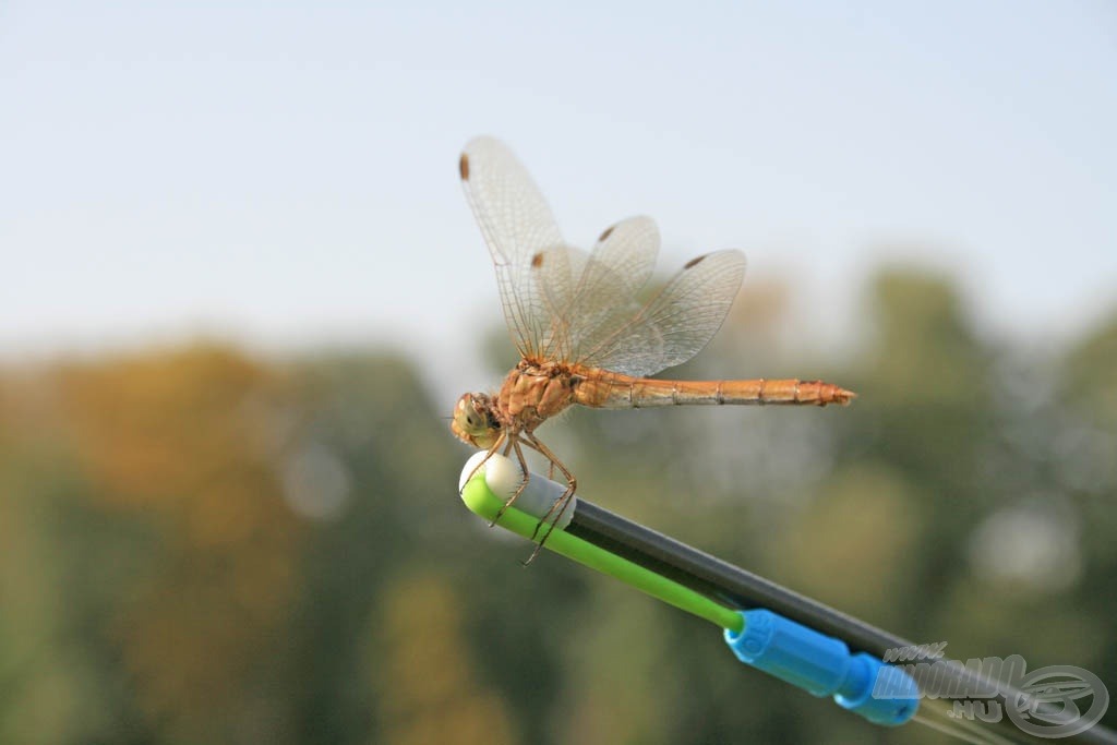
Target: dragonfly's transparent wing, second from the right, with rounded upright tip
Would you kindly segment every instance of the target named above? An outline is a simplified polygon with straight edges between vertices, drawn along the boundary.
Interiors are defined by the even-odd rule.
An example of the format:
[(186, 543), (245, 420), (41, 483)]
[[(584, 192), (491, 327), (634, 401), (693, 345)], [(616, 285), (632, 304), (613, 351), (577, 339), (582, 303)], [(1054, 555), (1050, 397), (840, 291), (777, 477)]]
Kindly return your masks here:
[(577, 278), (570, 304), (558, 316), (562, 333), (554, 353), (577, 362), (640, 311), (637, 293), (648, 283), (659, 252), (659, 229), (651, 218), (634, 217), (598, 239)]

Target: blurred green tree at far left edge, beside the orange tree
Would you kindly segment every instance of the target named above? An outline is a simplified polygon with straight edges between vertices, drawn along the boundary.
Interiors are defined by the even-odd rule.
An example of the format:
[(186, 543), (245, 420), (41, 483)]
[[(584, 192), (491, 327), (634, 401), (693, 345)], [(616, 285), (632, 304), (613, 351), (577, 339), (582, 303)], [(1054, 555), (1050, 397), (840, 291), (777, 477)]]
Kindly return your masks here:
[(142, 742), (97, 622), (142, 538), (90, 514), (57, 413), (34, 371), (0, 380), (0, 742)]

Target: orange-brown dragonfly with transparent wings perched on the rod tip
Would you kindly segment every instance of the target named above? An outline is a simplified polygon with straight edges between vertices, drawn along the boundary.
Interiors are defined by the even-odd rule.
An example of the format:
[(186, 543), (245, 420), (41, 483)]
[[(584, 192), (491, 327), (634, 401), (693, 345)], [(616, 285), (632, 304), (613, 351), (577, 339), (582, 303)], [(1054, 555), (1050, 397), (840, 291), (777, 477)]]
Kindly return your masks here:
[(524, 479), (496, 519), (527, 486), (525, 448), (550, 462), (552, 477), (555, 469), (563, 475), (565, 491), (536, 526), (537, 535), (540, 526), (551, 520), (536, 552), (573, 497), (577, 479), (535, 430), (574, 404), (823, 407), (855, 398), (851, 391), (819, 380), (649, 378), (690, 360), (722, 326), (744, 278), (744, 254), (723, 250), (690, 259), (658, 294), (641, 303), (638, 298), (651, 278), (660, 243), (651, 218), (617, 222), (586, 254), (563, 240), (540, 189), (500, 141), (471, 140), (458, 166), (496, 267), (504, 318), (521, 360), (496, 393), (466, 393), (458, 399), (450, 429), (464, 442), (487, 450), (470, 477), (494, 453), (515, 452)]

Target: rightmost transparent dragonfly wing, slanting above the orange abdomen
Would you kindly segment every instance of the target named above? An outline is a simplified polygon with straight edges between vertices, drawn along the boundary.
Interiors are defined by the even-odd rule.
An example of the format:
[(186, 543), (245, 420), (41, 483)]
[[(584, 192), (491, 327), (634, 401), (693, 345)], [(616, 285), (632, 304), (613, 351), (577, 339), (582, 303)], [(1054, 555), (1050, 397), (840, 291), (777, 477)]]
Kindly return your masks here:
[(682, 364), (720, 328), (745, 276), (741, 251), (691, 259), (628, 323), (582, 347), (582, 364), (645, 376)]

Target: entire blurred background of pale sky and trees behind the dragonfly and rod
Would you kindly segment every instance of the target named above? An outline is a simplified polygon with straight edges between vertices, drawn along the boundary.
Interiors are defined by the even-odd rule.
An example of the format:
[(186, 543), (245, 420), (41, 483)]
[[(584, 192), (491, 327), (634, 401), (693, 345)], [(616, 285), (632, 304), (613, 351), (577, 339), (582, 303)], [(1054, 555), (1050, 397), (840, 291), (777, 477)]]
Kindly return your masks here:
[[(0, 742), (939, 742), (488, 529), (514, 362), (457, 154), (750, 257), (589, 498), (955, 658), (1117, 686), (1108, 2), (0, 2)], [(1109, 723), (1114, 717), (1107, 717)]]

